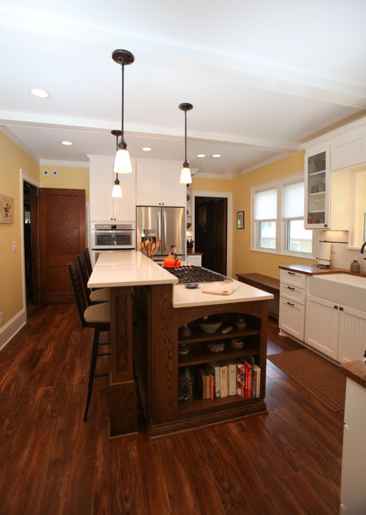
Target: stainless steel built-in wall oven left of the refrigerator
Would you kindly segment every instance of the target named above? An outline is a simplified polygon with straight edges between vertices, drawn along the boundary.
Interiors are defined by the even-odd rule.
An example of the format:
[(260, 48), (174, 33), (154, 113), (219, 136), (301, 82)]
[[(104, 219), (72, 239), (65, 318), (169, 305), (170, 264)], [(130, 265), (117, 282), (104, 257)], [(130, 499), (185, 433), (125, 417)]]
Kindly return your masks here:
[(136, 222), (91, 222), (91, 264), (94, 266), (101, 252), (136, 249)]

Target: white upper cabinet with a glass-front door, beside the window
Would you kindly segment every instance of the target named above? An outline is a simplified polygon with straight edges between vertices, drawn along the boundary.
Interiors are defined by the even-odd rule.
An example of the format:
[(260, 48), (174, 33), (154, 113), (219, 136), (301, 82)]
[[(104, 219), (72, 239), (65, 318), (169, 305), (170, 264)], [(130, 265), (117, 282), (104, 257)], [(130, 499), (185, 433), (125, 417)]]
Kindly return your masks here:
[(330, 147), (305, 154), (306, 229), (330, 227)]

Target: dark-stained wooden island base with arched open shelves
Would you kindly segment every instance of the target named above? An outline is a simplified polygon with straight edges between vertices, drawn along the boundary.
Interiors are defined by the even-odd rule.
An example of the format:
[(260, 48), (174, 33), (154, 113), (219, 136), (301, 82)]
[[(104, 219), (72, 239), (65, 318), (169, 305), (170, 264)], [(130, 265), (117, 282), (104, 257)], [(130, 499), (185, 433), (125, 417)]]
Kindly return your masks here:
[[(181, 287), (181, 286), (176, 286)], [(134, 334), (134, 357), (139, 390), (150, 438), (179, 433), (193, 428), (230, 422), (267, 413), (264, 402), (266, 382), (266, 347), (268, 300), (225, 303), (194, 307), (172, 307), (172, 286), (151, 285), (135, 288), (138, 323)], [(224, 323), (216, 333), (204, 333), (194, 328), (194, 321), (212, 314), (222, 314), (233, 330), (222, 334)], [(244, 314), (248, 319), (245, 330), (235, 328), (234, 318)], [(179, 328), (190, 324), (190, 338), (181, 338)], [(232, 337), (241, 337), (244, 348), (233, 350)], [(224, 340), (225, 350), (212, 353), (208, 341)], [(178, 344), (188, 343), (190, 352), (178, 354)], [(259, 398), (228, 396), (215, 400), (178, 401), (178, 371), (189, 367), (194, 372), (199, 365), (210, 361), (252, 355), (261, 368)]]

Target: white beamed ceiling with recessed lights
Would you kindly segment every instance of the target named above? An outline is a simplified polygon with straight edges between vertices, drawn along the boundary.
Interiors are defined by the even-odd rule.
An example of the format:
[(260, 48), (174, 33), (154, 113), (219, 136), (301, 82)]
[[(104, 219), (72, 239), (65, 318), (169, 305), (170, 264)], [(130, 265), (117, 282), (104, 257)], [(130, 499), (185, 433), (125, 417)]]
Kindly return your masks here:
[(113, 155), (117, 48), (135, 56), (124, 73), (130, 155), (183, 162), (178, 105), (190, 102), (199, 176), (279, 159), (366, 109), (364, 0), (0, 0), (0, 14), (0, 128), (42, 164)]

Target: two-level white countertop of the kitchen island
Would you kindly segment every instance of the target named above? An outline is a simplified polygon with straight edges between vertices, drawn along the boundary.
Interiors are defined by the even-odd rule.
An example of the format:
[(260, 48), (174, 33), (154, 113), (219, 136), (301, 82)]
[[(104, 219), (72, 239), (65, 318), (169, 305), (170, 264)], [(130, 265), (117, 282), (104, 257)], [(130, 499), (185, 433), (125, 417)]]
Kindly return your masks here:
[[(184, 263), (182, 263), (184, 264)], [(231, 295), (209, 295), (202, 293), (208, 283), (198, 284), (195, 289), (177, 284), (178, 279), (163, 267), (154, 263), (141, 252), (106, 252), (99, 255), (98, 261), (88, 281), (89, 288), (113, 286), (139, 286), (145, 284), (172, 284), (173, 307), (206, 306), (270, 300), (273, 295), (248, 284), (233, 281), (238, 288)]]

